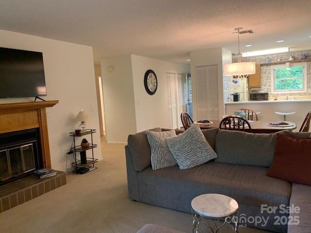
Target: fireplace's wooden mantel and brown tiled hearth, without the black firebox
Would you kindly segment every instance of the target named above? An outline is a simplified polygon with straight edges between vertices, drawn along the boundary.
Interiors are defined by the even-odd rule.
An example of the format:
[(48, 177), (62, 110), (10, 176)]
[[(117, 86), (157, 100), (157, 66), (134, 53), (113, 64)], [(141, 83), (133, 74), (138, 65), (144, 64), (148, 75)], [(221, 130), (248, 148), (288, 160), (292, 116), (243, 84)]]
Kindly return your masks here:
[[(0, 134), (21, 130), (37, 129), (39, 134), (38, 154), (42, 156), (40, 167), (51, 167), (50, 149), (47, 131), (46, 107), (52, 107), (55, 101), (0, 104)], [(0, 148), (1, 148), (0, 142)], [(50, 178), (38, 178), (28, 174), (20, 179), (0, 186), (0, 213), (28, 200), (50, 192), (66, 184), (65, 172), (57, 171)]]

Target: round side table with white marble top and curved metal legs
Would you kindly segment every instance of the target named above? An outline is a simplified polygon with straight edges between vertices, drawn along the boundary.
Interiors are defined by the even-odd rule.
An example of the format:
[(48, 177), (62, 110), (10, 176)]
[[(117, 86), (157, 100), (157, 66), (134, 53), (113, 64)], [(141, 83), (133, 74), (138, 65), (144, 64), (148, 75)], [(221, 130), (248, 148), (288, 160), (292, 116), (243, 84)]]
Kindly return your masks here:
[[(200, 222), (218, 233), (226, 224), (230, 224), (234, 233), (238, 232), (238, 202), (222, 194), (203, 194), (191, 201), (191, 213), (193, 218), (193, 233), (199, 232)], [(212, 224), (207, 220), (211, 220)], [(222, 222), (224, 221), (224, 222)]]

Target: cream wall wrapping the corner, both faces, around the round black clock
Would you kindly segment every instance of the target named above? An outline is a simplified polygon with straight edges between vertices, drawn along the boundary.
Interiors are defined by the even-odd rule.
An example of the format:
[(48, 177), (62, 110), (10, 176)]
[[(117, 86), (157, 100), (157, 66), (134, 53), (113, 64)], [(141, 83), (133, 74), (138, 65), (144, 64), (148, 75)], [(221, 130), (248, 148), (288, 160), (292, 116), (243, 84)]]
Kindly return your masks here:
[[(166, 73), (189, 73), (189, 65), (123, 55), (102, 59), (101, 66), (107, 141), (126, 142), (128, 134), (169, 127)], [(144, 87), (148, 69), (155, 71), (158, 80), (153, 96)]]

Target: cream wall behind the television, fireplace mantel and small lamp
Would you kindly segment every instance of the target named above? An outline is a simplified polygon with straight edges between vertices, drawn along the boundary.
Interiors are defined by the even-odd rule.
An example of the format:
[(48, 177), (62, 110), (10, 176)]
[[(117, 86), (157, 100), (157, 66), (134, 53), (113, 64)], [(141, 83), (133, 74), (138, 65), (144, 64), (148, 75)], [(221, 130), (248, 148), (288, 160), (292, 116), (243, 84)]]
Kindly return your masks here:
[[(78, 127), (79, 122), (74, 117), (80, 109), (89, 114), (87, 128), (99, 130), (92, 47), (3, 30), (0, 30), (0, 38), (0, 47), (43, 52), (47, 85), (44, 99), (59, 100), (47, 109), (51, 163), (52, 168), (65, 171), (66, 153), (72, 142), (68, 133)], [(33, 100), (2, 99), (0, 103)], [(90, 112), (90, 105), (93, 112)], [(94, 134), (94, 143), (100, 145), (99, 133)], [(96, 158), (102, 159), (100, 147), (94, 152)]]

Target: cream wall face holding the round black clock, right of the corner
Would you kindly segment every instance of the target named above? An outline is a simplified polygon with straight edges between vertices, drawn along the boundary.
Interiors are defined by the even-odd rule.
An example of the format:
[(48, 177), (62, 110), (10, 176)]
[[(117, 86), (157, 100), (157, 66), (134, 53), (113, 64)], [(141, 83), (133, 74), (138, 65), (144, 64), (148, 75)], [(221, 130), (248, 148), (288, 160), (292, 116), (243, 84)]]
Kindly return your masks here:
[[(152, 96), (146, 92), (144, 87), (144, 75), (148, 69), (155, 71), (158, 82), (157, 90)], [(166, 73), (186, 74), (190, 72), (190, 66), (132, 55), (132, 71), (137, 132), (155, 127), (169, 128)]]

